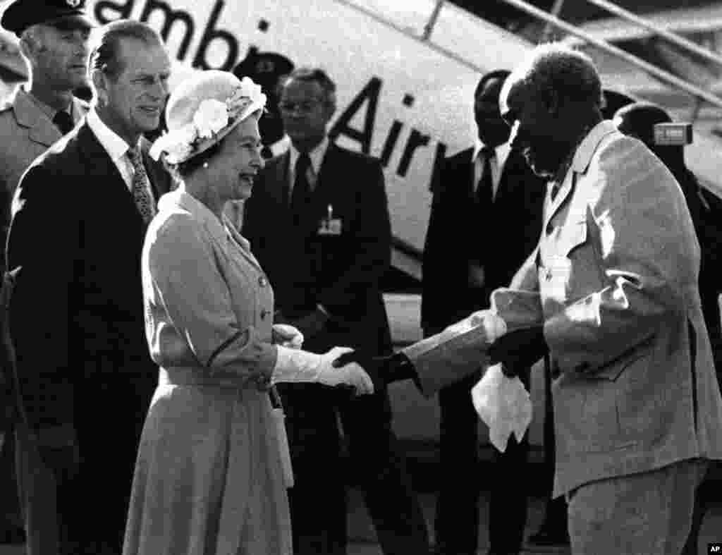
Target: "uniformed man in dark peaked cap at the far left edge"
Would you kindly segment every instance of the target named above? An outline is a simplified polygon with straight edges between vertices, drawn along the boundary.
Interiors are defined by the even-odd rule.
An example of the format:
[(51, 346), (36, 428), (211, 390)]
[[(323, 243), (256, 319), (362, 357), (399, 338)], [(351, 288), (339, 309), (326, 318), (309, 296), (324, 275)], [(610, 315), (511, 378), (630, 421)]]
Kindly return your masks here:
[[(86, 84), (92, 27), (77, 0), (17, 0), (4, 11), (1, 25), (19, 38), (29, 79), (0, 104), (0, 272), (5, 268), (10, 200), (22, 172), (87, 112), (87, 104), (73, 91)], [(12, 442), (6, 442), (0, 458), (2, 491), (14, 491), (11, 461)], [(11, 515), (18, 512), (17, 500), (12, 494), (2, 499), (0, 541), (15, 541), (19, 533), (1, 520), (3, 515), (16, 520)]]

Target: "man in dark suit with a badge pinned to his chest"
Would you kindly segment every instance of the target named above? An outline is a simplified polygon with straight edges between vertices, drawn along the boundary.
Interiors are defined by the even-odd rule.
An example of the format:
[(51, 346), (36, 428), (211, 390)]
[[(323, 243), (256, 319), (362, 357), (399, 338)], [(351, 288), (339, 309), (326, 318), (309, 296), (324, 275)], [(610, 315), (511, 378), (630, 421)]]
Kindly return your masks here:
[[(335, 89), (320, 69), (296, 69), (282, 81), (279, 107), (291, 148), (266, 162), (245, 206), (243, 234), (274, 287), (277, 321), (303, 332), (304, 349), (344, 345), (386, 354), (391, 336), (379, 280), (390, 261), (391, 225), (383, 173), (377, 159), (326, 136)], [(386, 388), (350, 398), (322, 386), (282, 385), (295, 553), (346, 553), (346, 484), (333, 470), (343, 463), (339, 422), (384, 553), (427, 553)]]

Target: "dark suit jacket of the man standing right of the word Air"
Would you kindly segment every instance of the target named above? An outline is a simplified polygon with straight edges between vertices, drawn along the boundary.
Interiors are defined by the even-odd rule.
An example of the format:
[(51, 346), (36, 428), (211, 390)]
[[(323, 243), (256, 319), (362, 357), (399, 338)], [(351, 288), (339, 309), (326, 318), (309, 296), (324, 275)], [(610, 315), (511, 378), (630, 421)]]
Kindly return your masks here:
[[(546, 184), (521, 154), (509, 153), (493, 206), (473, 198), (473, 149), (445, 160), (433, 186), (423, 261), (422, 328), (427, 334), (489, 306), (536, 247)], [(485, 286), (470, 288), (469, 263), (484, 266)]]

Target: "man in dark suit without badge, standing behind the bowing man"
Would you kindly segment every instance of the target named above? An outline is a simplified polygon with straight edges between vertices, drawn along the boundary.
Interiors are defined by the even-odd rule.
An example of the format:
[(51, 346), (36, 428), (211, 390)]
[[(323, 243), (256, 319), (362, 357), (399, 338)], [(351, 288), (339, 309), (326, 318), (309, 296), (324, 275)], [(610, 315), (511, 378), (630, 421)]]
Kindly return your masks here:
[[(498, 104), (508, 74), (491, 71), (479, 81), (474, 92), (479, 140), (447, 159), (434, 183), (423, 261), (425, 336), (488, 308), (490, 293), (510, 283), (539, 240), (546, 186), (521, 153), (510, 150), (510, 130)], [(460, 243), (468, 246), (458, 248)], [(529, 368), (519, 375), (529, 389)], [(443, 555), (477, 552), (479, 418), (470, 393), (477, 380), (478, 373), (439, 393), (441, 471), (435, 529), (437, 551)], [(518, 481), (526, 479), (528, 451), (526, 437), (521, 443), (511, 437), (505, 453), (495, 455), (495, 475), (489, 478), (490, 553), (516, 554), (521, 548), (526, 491)]]

